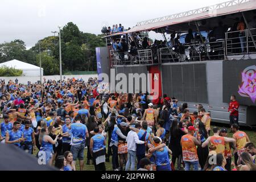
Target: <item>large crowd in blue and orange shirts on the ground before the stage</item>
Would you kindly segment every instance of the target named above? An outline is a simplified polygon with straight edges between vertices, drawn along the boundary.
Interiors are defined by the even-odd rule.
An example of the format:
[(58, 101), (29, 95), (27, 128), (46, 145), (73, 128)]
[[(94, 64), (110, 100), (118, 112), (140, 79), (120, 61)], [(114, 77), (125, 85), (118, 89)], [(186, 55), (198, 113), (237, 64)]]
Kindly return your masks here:
[[(77, 160), (82, 171), (85, 153), (86, 164), (101, 171), (105, 163), (114, 171), (256, 170), (255, 146), (236, 114), (229, 138), (228, 130), (212, 129), (203, 105), (191, 113), (166, 94), (150, 101), (144, 93), (110, 94), (97, 78), (68, 78), (42, 85), (1, 80), (0, 97), (1, 144), (63, 171), (77, 170)], [(230, 103), (231, 115), (239, 105), (234, 96)]]

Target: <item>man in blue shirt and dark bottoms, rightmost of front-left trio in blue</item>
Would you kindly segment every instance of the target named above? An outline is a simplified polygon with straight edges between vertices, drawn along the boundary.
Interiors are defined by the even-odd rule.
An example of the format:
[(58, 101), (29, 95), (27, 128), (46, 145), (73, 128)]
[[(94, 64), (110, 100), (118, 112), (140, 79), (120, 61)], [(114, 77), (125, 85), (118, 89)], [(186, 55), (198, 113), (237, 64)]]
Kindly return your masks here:
[(35, 145), (36, 143), (35, 143), (35, 132), (30, 127), (29, 120), (25, 121), (25, 127), (21, 131), (23, 132), (23, 138), (24, 138), (22, 149), (24, 151), (28, 150), (28, 154), (32, 154), (33, 148), (34, 150), (36, 149), (36, 145)]

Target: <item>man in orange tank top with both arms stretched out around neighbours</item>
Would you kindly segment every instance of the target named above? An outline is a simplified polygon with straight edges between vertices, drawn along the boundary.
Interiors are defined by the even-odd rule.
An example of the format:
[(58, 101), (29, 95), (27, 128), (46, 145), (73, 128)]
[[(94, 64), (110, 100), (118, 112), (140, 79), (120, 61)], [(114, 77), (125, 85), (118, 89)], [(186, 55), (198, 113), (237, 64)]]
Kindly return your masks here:
[(234, 146), (236, 146), (236, 140), (233, 138), (228, 138), (228, 137), (221, 137), (220, 136), (220, 129), (218, 127), (213, 128), (213, 136), (208, 137), (207, 140), (202, 144), (202, 147), (207, 147), (208, 144), (210, 143), (212, 146), (216, 147), (216, 153), (217, 154), (222, 154), (225, 156), (225, 142), (232, 142)]

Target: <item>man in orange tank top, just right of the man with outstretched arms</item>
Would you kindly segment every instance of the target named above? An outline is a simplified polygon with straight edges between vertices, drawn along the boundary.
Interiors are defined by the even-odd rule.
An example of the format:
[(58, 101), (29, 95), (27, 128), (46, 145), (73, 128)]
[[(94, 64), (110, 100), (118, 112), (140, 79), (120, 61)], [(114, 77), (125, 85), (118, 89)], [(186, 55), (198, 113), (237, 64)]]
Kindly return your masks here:
[(245, 132), (239, 130), (239, 126), (236, 123), (231, 126), (231, 131), (234, 133), (233, 139), (236, 140), (236, 150), (234, 150), (234, 160), (237, 168), (238, 166), (237, 160), (240, 154), (246, 151), (245, 144), (247, 142), (250, 142), (250, 139)]

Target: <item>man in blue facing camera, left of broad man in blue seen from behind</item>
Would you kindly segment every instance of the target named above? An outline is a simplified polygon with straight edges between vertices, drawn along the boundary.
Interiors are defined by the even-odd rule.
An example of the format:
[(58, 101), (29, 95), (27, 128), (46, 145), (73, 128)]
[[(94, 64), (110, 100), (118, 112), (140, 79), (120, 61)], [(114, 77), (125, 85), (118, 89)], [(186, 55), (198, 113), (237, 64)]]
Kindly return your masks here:
[(71, 118), (65, 119), (65, 125), (63, 125), (62, 130), (62, 153), (64, 154), (65, 151), (71, 150), (71, 129), (69, 127), (71, 126)]

